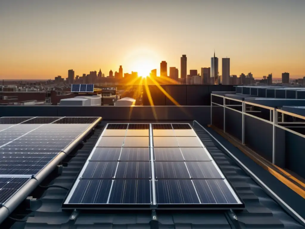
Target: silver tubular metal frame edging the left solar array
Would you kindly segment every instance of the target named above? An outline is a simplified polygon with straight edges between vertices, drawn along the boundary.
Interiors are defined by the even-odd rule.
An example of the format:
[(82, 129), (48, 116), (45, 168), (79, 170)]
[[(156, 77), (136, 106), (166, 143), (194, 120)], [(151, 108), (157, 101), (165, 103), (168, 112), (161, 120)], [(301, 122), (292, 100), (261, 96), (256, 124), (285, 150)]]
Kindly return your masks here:
[[(34, 117), (36, 118), (36, 117)], [(50, 118), (50, 117), (46, 117)], [(56, 117), (58, 121), (65, 117)], [(72, 118), (72, 117), (71, 117)], [(86, 118), (86, 117), (73, 117), (73, 118)], [(92, 118), (92, 117), (87, 117)], [(68, 146), (61, 150), (43, 169), (41, 169), (35, 176), (28, 176), (29, 180), (22, 186), (18, 191), (15, 192), (7, 201), (5, 201), (0, 208), (0, 224), (5, 220), (20, 203), (28, 197), (28, 195), (34, 191), (34, 189), (56, 168), (56, 166), (66, 158), (66, 156), (73, 151), (73, 149), (95, 128), (102, 120), (101, 117), (96, 117), (95, 122), (91, 123), (87, 129), (85, 129), (81, 134), (79, 134)], [(32, 118), (31, 118), (32, 119)], [(29, 119), (28, 119), (29, 120)], [(26, 120), (26, 121), (28, 121)], [(54, 121), (54, 122), (56, 122)], [(19, 123), (20, 124), (20, 123)], [(51, 123), (48, 123), (51, 124)], [(48, 125), (48, 124), (41, 124)], [(18, 124), (17, 124), (18, 125)], [(73, 124), (71, 124), (73, 125)], [(40, 127), (39, 126), (39, 127)], [(2, 176), (4, 177), (4, 176)], [(6, 176), (5, 177), (12, 177)], [(16, 177), (16, 176), (14, 176)], [(18, 176), (24, 177), (24, 176)]]

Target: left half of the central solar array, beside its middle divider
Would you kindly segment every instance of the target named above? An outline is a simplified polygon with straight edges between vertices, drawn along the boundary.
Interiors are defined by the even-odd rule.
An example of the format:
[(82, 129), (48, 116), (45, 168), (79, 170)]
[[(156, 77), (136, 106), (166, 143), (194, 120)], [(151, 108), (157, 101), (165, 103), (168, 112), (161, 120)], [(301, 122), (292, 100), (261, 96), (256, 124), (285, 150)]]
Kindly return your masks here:
[(149, 124), (108, 124), (70, 202), (151, 204)]

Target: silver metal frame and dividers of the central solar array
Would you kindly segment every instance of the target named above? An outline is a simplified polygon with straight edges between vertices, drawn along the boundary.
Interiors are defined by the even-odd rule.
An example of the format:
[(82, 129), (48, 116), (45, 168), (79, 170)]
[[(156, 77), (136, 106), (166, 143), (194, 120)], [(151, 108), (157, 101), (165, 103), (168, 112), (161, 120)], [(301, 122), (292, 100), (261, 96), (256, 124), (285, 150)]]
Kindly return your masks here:
[[(193, 187), (196, 191), (199, 203), (197, 204), (158, 204), (156, 202), (156, 184), (155, 182), (157, 182), (156, 178), (155, 178), (155, 168), (154, 168), (154, 163), (155, 163), (155, 159), (154, 159), (154, 144), (153, 144), (153, 128), (152, 125), (153, 124), (160, 124), (160, 123), (115, 123), (115, 124), (127, 124), (127, 129), (128, 130), (128, 125), (129, 124), (149, 124), (149, 156), (150, 156), (150, 163), (151, 163), (151, 172), (152, 172), (152, 179), (151, 179), (151, 186), (150, 186), (150, 194), (151, 194), (151, 203), (149, 205), (147, 204), (113, 204), (113, 203), (109, 203), (109, 198), (111, 195), (111, 190), (112, 190), (112, 186), (113, 186), (113, 182), (114, 180), (112, 180), (112, 184), (111, 184), (111, 188), (108, 194), (108, 199), (107, 199), (107, 203), (105, 204), (88, 204), (88, 203), (69, 203), (70, 199), (72, 198), (77, 185), (79, 184), (82, 175), (84, 174), (86, 168), (88, 167), (88, 164), (90, 162), (90, 158), (92, 157), (93, 153), (95, 152), (96, 147), (98, 147), (99, 142), (101, 141), (107, 126), (109, 124), (112, 123), (107, 123), (106, 126), (104, 127), (101, 135), (99, 136), (99, 139), (97, 140), (93, 150), (91, 151), (91, 153), (88, 156), (87, 161), (85, 162), (83, 168), (81, 169), (81, 172), (79, 173), (79, 175), (77, 176), (76, 180), (74, 181), (73, 186), (71, 187), (69, 193), (67, 194), (66, 198), (64, 199), (62, 208), (63, 209), (100, 209), (100, 210), (110, 210), (110, 209), (117, 209), (117, 210), (133, 210), (133, 209), (137, 209), (137, 210), (150, 210), (150, 209), (162, 209), (162, 210), (181, 210), (181, 209), (244, 209), (244, 203), (242, 202), (241, 198), (239, 198), (239, 196), (237, 195), (236, 191), (234, 190), (234, 188), (231, 186), (231, 184), (228, 182), (227, 178), (225, 177), (224, 173), (222, 173), (221, 169), (218, 167), (218, 165), (216, 164), (216, 162), (213, 160), (213, 157), (211, 156), (210, 152), (206, 149), (206, 147), (204, 146), (204, 144), (202, 143), (202, 141), (200, 140), (199, 136), (197, 135), (196, 131), (193, 129), (192, 125), (190, 125), (190, 123), (179, 123), (179, 124), (186, 124), (189, 125), (190, 128), (192, 129), (192, 131), (196, 134), (196, 136), (194, 136), (195, 138), (197, 138), (197, 140), (200, 142), (201, 146), (203, 147), (203, 150), (205, 151), (205, 153), (209, 156), (209, 158), (211, 159), (211, 162), (213, 163), (214, 167), (216, 168), (217, 172), (221, 175), (221, 180), (224, 181), (224, 184), (226, 184), (226, 186), (228, 187), (228, 189), (230, 190), (231, 194), (233, 195), (233, 197), (235, 198), (237, 203), (228, 203), (228, 204), (203, 204), (200, 201), (199, 195), (197, 194), (196, 191), (196, 187), (195, 184), (192, 181)], [(162, 123), (162, 124), (172, 124), (173, 123)], [(174, 128), (172, 126), (172, 130), (174, 131)], [(126, 137), (126, 133), (125, 133), (125, 137)], [(121, 147), (121, 152), (122, 149), (124, 147), (124, 142), (123, 142), (123, 146)], [(180, 146), (179, 146), (180, 149)], [(181, 149), (180, 149), (181, 151)], [(181, 152), (182, 154), (182, 152)], [(185, 162), (184, 162), (185, 163)], [(118, 165), (117, 165), (118, 168)], [(117, 173), (117, 168), (116, 168), (116, 172)], [(186, 168), (188, 168), (186, 166)], [(187, 169), (188, 170), (188, 169)], [(190, 175), (189, 171), (188, 174)], [(115, 176), (115, 175), (114, 175)], [(180, 180), (180, 179), (177, 179)], [(184, 180), (184, 179), (182, 179)], [(196, 179), (197, 180), (197, 179)], [(200, 179), (198, 179), (200, 180)], [(202, 179), (205, 180), (205, 179)]]

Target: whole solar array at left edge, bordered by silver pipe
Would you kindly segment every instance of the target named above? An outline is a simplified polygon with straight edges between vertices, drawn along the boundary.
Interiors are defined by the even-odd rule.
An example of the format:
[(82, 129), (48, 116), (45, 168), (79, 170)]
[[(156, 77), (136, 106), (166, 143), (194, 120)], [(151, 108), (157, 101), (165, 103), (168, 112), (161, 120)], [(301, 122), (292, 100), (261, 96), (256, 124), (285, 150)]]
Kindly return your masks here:
[(0, 118), (0, 204), (4, 204), (97, 119)]

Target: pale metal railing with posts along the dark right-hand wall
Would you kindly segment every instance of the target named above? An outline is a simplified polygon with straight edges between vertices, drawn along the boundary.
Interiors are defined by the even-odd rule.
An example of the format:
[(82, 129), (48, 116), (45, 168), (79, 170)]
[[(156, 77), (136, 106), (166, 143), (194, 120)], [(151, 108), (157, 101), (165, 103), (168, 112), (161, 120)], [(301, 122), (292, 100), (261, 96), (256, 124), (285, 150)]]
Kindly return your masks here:
[[(223, 98), (224, 104), (214, 103), (213, 100), (212, 100), (213, 96)], [(242, 106), (242, 111), (235, 110), (235, 109), (231, 108), (230, 105), (226, 105), (225, 104), (226, 99), (240, 102), (241, 104), (237, 105), (237, 106)], [(235, 112), (238, 112), (238, 113), (242, 114), (242, 144), (245, 144), (245, 115), (248, 115), (252, 118), (256, 118), (260, 121), (267, 122), (267, 123), (273, 125), (273, 134), (272, 134), (272, 163), (273, 164), (275, 164), (275, 139), (276, 139), (275, 133), (276, 133), (276, 127), (280, 128), (280, 129), (283, 129), (285, 131), (288, 131), (290, 133), (296, 134), (300, 137), (305, 138), (304, 134), (298, 133), (298, 132), (293, 131), (291, 129), (288, 129), (288, 128), (282, 126), (282, 125), (279, 125), (279, 124), (289, 124), (289, 122), (283, 122), (283, 116), (284, 115), (290, 115), (290, 116), (305, 120), (304, 116), (293, 114), (291, 112), (283, 111), (281, 109), (277, 109), (277, 108), (274, 108), (274, 107), (267, 107), (267, 106), (264, 106), (264, 105), (261, 105), (261, 104), (255, 104), (255, 103), (251, 103), (251, 102), (247, 102), (247, 101), (243, 101), (243, 100), (233, 99), (233, 98), (229, 98), (229, 97), (226, 97), (226, 96), (221, 96), (221, 95), (217, 95), (217, 94), (213, 94), (213, 93), (211, 93), (211, 123), (210, 123), (211, 125), (213, 124), (212, 123), (213, 104), (217, 105), (217, 106), (220, 106), (220, 107), (224, 107), (224, 132), (225, 132), (225, 109), (230, 109), (232, 111), (235, 111)], [(248, 112), (246, 111), (246, 105), (247, 104), (251, 105), (251, 106), (261, 107), (261, 108), (269, 110), (270, 111), (270, 120), (266, 120), (266, 119), (263, 119), (263, 118), (259, 118), (255, 115), (249, 114), (248, 113), (249, 111)], [(282, 113), (282, 122), (278, 122), (278, 112)], [(305, 122), (293, 122), (293, 123), (304, 124)]]

